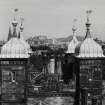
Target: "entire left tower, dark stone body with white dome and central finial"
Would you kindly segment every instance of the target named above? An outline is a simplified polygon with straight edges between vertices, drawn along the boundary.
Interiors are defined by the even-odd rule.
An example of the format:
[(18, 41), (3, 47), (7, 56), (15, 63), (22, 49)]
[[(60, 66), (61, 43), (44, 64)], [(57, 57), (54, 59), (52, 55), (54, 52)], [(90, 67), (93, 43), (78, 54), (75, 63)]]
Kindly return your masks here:
[(2, 105), (26, 105), (26, 72), (29, 54), (16, 34), (18, 22), (12, 21), (13, 36), (1, 48), (0, 84)]

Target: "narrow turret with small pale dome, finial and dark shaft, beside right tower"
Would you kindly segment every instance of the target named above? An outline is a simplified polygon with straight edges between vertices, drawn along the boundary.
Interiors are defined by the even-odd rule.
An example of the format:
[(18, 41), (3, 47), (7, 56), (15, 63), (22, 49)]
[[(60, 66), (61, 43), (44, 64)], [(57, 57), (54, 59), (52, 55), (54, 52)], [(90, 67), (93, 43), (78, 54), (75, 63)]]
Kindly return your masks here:
[[(73, 28), (72, 28), (72, 32), (73, 32), (73, 38), (72, 40), (69, 42), (68, 44), (68, 49), (66, 51), (65, 54), (65, 64), (63, 64), (63, 78), (64, 80), (68, 81), (67, 83), (69, 83), (71, 80), (72, 83), (75, 84), (75, 70), (74, 70), (74, 63), (75, 63), (75, 48), (76, 46), (79, 44), (79, 41), (76, 38), (76, 22), (77, 19), (73, 20)], [(70, 83), (71, 84), (71, 83)], [(73, 86), (75, 87), (75, 85)]]

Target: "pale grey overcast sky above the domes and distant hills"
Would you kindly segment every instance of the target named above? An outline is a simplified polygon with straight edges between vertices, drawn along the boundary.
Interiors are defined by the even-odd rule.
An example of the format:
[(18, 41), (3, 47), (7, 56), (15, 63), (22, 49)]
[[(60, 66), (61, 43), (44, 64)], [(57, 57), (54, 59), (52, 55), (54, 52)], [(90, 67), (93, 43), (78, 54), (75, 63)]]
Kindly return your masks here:
[(24, 18), (23, 37), (47, 35), (49, 38), (72, 35), (73, 20), (76, 35), (85, 36), (86, 11), (92, 10), (91, 35), (105, 41), (105, 0), (0, 0), (0, 40), (6, 40), (14, 17), (18, 27)]

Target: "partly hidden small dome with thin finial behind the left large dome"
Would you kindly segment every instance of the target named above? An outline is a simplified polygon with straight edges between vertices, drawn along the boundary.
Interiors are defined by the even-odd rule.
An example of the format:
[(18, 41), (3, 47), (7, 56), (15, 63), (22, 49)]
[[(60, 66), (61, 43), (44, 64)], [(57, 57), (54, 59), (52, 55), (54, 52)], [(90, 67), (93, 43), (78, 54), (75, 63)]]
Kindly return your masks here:
[(23, 39), (23, 36), (22, 36), (22, 33), (23, 33), (23, 20), (24, 18), (21, 18), (21, 25), (20, 25), (20, 31), (18, 33), (18, 38), (19, 38), (19, 41), (23, 44), (25, 50), (27, 53), (32, 53), (32, 50), (30, 48), (30, 45)]

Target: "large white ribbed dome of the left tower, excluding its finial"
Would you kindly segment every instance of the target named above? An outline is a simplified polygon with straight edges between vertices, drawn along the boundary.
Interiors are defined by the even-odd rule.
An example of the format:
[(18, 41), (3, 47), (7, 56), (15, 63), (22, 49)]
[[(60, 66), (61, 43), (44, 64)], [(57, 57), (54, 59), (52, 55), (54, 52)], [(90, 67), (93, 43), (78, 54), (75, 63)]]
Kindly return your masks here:
[(18, 38), (11, 38), (2, 48), (0, 58), (28, 58), (29, 55)]

